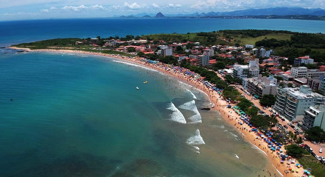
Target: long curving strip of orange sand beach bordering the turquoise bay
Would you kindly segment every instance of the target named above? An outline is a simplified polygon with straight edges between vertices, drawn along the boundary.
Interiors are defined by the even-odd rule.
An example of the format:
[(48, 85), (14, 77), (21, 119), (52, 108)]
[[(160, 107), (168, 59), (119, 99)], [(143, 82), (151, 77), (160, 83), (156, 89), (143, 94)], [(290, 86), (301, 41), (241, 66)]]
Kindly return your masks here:
[[(25, 48), (17, 48), (17, 47), (14, 47), (14, 48), (8, 47), (8, 48), (16, 49), (16, 50), (25, 50)], [(97, 52), (86, 52), (86, 51), (64, 50), (64, 49), (63, 50), (62, 49), (59, 49), (59, 50), (37, 49), (37, 50), (27, 50), (27, 51), (29, 51), (29, 52), (59, 52), (59, 53), (63, 52), (63, 53), (77, 53), (77, 54), (85, 54), (85, 55), (95, 55), (95, 56), (101, 56), (101, 57), (111, 57), (111, 58), (128, 61), (128, 62), (137, 64), (137, 65), (140, 65), (142, 67), (146, 67), (146, 68), (149, 68), (152, 70), (162, 72), (163, 74), (172, 76), (175, 79), (177, 79), (178, 81), (188, 84), (188, 85), (202, 91), (203, 93), (205, 93), (208, 96), (210, 102), (214, 105), (214, 107), (212, 107), (212, 109), (219, 111), (221, 117), (224, 120), (226, 120), (228, 123), (232, 124), (232, 126), (239, 131), (241, 138), (243, 138), (246, 141), (248, 141), (249, 143), (251, 143), (252, 146), (255, 146), (253, 148), (257, 148), (256, 150), (264, 152), (267, 159), (272, 163), (272, 165), (274, 167), (274, 169), (267, 171), (267, 172), (272, 171), (270, 173), (270, 176), (271, 176), (271, 174), (272, 174), (272, 176), (274, 176), (273, 173), (274, 174), (279, 173), (281, 176), (292, 176), (292, 177), (303, 175), (303, 171), (304, 171), (303, 168), (299, 168), (299, 173), (296, 173), (296, 172), (284, 173), (285, 170), (288, 170), (287, 165), (285, 163), (281, 164), (280, 158), (277, 157), (277, 154), (275, 154), (275, 153), (273, 153), (273, 151), (269, 150), (267, 147), (267, 144), (265, 142), (263, 142), (263, 140), (261, 140), (261, 139), (257, 140), (256, 139), (257, 135), (255, 133), (247, 131), (247, 130), (251, 129), (247, 124), (243, 124), (243, 125), (239, 124), (239, 121), (240, 121), (240, 119), (238, 119), (239, 116), (235, 113), (234, 110), (226, 107), (228, 105), (228, 103), (223, 99), (219, 99), (219, 95), (217, 92), (215, 92), (214, 90), (212, 90), (210, 88), (207, 88), (199, 80), (186, 76), (183, 72), (176, 72), (175, 70), (166, 70), (162, 65), (156, 66), (152, 63), (141, 61), (141, 59), (144, 59), (144, 58), (141, 58), (138, 56), (134, 56), (134, 57), (123, 56), (122, 57), (122, 56), (116, 55), (116, 54), (103, 54), (103, 53), (97, 53)], [(234, 106), (234, 104), (231, 104), (231, 105)], [(244, 131), (244, 130), (246, 130), (246, 131)], [(263, 153), (263, 152), (261, 152), (261, 153)], [(290, 167), (294, 170), (297, 170), (298, 168), (294, 165), (295, 164), (290, 164)], [(263, 176), (264, 174), (261, 174), (261, 175)]]

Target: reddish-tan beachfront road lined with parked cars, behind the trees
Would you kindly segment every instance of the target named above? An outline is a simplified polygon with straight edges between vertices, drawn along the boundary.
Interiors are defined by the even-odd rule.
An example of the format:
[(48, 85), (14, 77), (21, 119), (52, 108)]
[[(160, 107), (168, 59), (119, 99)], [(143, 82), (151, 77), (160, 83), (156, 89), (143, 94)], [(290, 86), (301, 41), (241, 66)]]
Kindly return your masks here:
[[(221, 77), (221, 74), (219, 74), (219, 73), (217, 73), (217, 75), (222, 79), (222, 80), (225, 80), (223, 77)], [(247, 94), (245, 95), (244, 94), (244, 92), (243, 91), (241, 91), (240, 90), (240, 88), (243, 88), (242, 86), (240, 86), (240, 88), (237, 88), (237, 86), (236, 85), (232, 85), (232, 86), (235, 86), (236, 87), (236, 89), (241, 93), (241, 95), (244, 95), (248, 100), (250, 100), (254, 105), (256, 105), (258, 108), (260, 108), (261, 110), (263, 110), (266, 114), (268, 114), (268, 115), (271, 115), (272, 114), (272, 112), (271, 111), (269, 111), (269, 109), (271, 109), (271, 105), (267, 108), (267, 109), (263, 109), (263, 107), (264, 106), (262, 106), (262, 105), (260, 105), (260, 102), (259, 102), (259, 100), (254, 100), (253, 99), (253, 95), (252, 96), (248, 96)], [(288, 126), (288, 131), (292, 131), (292, 132), (295, 132), (295, 130), (293, 130), (293, 128), (292, 127), (290, 127), (287, 123), (289, 122), (289, 121), (282, 121), (279, 117), (277, 117), (278, 118), (278, 120), (279, 120), (279, 123), (283, 126), (283, 125), (287, 125)], [(295, 127), (296, 128), (298, 128), (298, 129), (300, 129), (299, 127), (297, 127), (296, 125), (295, 125)], [(304, 138), (304, 135), (301, 135), (301, 134), (299, 134), (299, 136), (301, 136), (302, 138)], [(323, 152), (323, 153), (319, 153), (318, 151), (319, 151), (319, 148), (323, 148), (323, 151), (325, 151), (325, 144), (319, 144), (319, 145), (314, 145), (312, 142), (310, 142), (310, 141), (304, 141), (304, 143), (306, 144), (306, 145), (308, 145), (308, 146), (310, 146), (312, 149), (313, 149), (313, 151), (314, 151), (314, 153), (317, 155), (317, 156), (325, 156), (325, 152)]]

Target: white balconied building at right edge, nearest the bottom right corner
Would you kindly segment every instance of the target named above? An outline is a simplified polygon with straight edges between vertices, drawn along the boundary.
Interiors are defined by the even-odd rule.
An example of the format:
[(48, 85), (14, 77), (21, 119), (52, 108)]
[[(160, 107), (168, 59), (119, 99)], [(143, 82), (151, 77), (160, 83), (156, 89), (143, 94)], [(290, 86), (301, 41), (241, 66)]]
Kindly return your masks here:
[(312, 127), (318, 126), (325, 130), (325, 106), (311, 106), (304, 112), (302, 122), (298, 122), (298, 126), (310, 130)]

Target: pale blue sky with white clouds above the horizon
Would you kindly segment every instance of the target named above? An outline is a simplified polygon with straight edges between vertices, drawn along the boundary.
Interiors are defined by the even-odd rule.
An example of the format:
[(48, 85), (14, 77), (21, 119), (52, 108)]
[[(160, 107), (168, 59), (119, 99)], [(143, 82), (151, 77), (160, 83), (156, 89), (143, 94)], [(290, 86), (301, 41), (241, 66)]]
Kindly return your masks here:
[(248, 8), (325, 8), (324, 0), (0, 0), (0, 20), (192, 14)]

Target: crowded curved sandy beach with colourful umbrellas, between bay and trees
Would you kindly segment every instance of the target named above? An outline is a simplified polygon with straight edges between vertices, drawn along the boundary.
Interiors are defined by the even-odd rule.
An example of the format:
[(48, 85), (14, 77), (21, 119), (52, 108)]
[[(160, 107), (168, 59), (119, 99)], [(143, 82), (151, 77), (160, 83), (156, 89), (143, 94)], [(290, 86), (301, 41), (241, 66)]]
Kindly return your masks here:
[[(219, 111), (222, 117), (225, 120), (227, 120), (229, 124), (233, 125), (237, 129), (237, 131), (240, 132), (242, 138), (252, 143), (257, 150), (264, 153), (266, 157), (270, 160), (270, 162), (272, 162), (274, 169), (263, 169), (265, 173), (256, 174), (256, 176), (262, 176), (262, 177), (279, 176), (279, 173), (283, 176), (292, 176), (292, 177), (296, 177), (296, 176), (300, 177), (304, 175), (304, 169), (302, 167), (297, 167), (295, 163), (292, 163), (291, 160), (296, 161), (295, 159), (286, 158), (286, 161), (281, 162), (280, 159), (281, 151), (271, 150), (268, 147), (268, 143), (266, 143), (263, 138), (256, 138), (258, 135), (256, 131), (252, 131), (252, 127), (250, 127), (246, 123), (243, 123), (243, 121), (240, 119), (240, 115), (238, 115), (232, 108), (226, 108), (228, 103), (226, 102), (225, 99), (222, 98), (222, 95), (221, 94), (219, 95), (218, 92), (213, 89), (211, 84), (204, 82), (203, 77), (201, 77), (200, 75), (194, 72), (191, 72), (188, 69), (164, 64), (162, 62), (156, 62), (156, 61), (153, 62), (151, 60), (142, 57), (137, 57), (137, 56), (125, 57), (125, 56), (120, 56), (115, 54), (103, 54), (100, 52), (85, 52), (85, 51), (78, 51), (78, 50), (40, 49), (40, 50), (32, 50), (32, 51), (66, 52), (66, 53), (70, 52), (70, 53), (90, 54), (90, 55), (98, 55), (104, 57), (119, 58), (174, 76), (178, 80), (205, 92), (209, 96), (210, 101), (215, 105), (214, 109)], [(219, 98), (220, 96), (221, 98)], [(231, 106), (236, 106), (236, 105), (232, 104)], [(283, 153), (285, 153), (285, 150), (283, 148), (281, 148), (281, 150)], [(286, 171), (289, 171), (289, 169), (291, 169), (290, 172), (285, 173)], [(294, 170), (294, 172), (292, 172), (292, 170)], [(298, 172), (296, 172), (297, 170)], [(279, 171), (279, 173), (277, 171)]]

